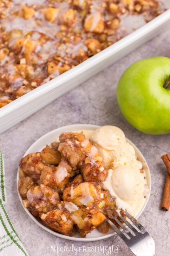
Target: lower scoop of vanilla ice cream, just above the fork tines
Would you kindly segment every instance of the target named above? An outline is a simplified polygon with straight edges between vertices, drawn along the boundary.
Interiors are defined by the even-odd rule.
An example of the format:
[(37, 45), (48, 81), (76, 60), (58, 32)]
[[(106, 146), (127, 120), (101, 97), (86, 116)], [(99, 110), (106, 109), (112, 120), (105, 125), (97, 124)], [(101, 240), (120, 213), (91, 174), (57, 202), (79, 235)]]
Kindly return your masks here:
[(130, 166), (120, 165), (110, 169), (103, 184), (103, 188), (108, 189), (110, 194), (116, 197), (117, 211), (123, 209), (135, 217), (141, 211), (149, 194), (145, 173), (140, 173)]

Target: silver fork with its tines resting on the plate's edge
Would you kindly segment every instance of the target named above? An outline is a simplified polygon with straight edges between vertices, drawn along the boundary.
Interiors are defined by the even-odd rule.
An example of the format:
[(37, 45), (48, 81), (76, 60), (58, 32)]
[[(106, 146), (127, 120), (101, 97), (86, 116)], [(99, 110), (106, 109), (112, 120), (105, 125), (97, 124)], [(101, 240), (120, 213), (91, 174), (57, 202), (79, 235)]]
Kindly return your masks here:
[(113, 219), (117, 222), (117, 224), (119, 224), (120, 227), (122, 227), (125, 234), (119, 228), (117, 228), (108, 217), (106, 217), (106, 220), (115, 230), (118, 236), (124, 240), (133, 254), (136, 256), (155, 256), (155, 242), (153, 238), (132, 215), (130, 215), (128, 212), (125, 212), (125, 215), (132, 221), (138, 230), (133, 227), (122, 215), (119, 217), (130, 228), (130, 230), (128, 230), (126, 226), (124, 226), (115, 216), (113, 216)]

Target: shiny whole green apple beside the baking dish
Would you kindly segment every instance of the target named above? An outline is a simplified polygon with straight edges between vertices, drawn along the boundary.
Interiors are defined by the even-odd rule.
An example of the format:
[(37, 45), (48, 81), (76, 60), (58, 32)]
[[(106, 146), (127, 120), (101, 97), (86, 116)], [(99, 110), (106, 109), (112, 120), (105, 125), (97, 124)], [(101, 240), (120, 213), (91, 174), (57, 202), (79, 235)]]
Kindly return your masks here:
[(119, 108), (143, 133), (170, 133), (169, 76), (170, 58), (152, 57), (132, 64), (119, 80)]

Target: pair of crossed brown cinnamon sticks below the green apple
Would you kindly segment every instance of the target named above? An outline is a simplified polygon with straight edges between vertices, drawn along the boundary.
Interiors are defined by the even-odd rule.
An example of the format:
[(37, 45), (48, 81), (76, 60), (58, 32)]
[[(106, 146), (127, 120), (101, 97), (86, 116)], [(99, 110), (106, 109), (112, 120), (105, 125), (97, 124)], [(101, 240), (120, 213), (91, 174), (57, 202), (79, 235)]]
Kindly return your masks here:
[(170, 206), (170, 153), (162, 156), (161, 158), (167, 168), (161, 208), (163, 209), (163, 211), (168, 211)]

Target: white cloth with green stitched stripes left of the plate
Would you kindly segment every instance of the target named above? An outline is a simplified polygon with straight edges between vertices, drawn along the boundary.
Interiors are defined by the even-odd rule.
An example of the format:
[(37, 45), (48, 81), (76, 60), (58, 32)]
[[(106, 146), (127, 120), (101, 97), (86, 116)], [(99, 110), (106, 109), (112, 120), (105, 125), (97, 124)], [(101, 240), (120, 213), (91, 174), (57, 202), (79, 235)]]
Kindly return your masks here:
[(5, 211), (6, 203), (4, 160), (0, 151), (0, 256), (28, 256)]

